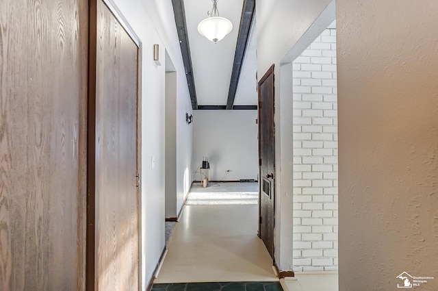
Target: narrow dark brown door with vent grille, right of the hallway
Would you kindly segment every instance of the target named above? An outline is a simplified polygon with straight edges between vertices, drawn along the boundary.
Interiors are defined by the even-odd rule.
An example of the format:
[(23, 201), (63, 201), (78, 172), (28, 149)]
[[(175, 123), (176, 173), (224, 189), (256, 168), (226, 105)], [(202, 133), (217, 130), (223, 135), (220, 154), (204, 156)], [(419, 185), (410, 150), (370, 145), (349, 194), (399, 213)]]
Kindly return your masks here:
[(274, 258), (274, 65), (259, 81), (259, 236)]

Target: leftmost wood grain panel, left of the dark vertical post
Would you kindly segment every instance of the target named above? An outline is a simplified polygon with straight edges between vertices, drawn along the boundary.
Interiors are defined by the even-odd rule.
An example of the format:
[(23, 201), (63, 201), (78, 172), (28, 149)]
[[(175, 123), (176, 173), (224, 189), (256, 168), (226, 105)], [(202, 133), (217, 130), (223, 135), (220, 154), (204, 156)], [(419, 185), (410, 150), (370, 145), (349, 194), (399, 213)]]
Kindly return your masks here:
[(0, 290), (84, 290), (88, 3), (0, 2)]

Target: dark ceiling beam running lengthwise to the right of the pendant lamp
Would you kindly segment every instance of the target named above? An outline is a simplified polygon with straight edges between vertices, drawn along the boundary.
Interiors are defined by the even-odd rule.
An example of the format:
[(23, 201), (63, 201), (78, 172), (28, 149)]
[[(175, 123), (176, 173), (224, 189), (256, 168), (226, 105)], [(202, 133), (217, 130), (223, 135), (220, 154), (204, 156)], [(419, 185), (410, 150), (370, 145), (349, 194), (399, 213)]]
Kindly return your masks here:
[(242, 16), (240, 17), (239, 35), (237, 36), (237, 45), (235, 48), (233, 71), (231, 72), (230, 88), (228, 91), (227, 109), (233, 109), (240, 71), (242, 71), (242, 64), (244, 62), (246, 45), (248, 45), (251, 23), (253, 23), (254, 11), (255, 0), (244, 0)]

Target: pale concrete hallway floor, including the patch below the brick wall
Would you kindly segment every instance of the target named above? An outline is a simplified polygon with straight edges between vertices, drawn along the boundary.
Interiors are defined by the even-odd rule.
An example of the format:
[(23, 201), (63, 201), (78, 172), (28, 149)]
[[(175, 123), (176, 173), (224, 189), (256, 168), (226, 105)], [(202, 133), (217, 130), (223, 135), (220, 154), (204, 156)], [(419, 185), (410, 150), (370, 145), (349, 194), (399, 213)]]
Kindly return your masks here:
[[(185, 205), (155, 283), (278, 281), (257, 237), (257, 202), (245, 203), (255, 194), (258, 199), (257, 191), (257, 183), (192, 186), (188, 201), (203, 200), (207, 205)], [(281, 285), (285, 291), (337, 291), (337, 273), (298, 273), (281, 280)]]

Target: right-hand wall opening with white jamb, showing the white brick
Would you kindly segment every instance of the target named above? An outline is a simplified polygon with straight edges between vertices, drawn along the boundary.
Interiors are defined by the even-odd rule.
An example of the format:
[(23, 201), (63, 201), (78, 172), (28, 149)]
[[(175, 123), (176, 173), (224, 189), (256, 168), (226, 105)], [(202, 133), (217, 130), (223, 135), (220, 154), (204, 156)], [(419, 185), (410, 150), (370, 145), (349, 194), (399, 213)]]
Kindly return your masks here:
[[(329, 286), (327, 290), (338, 288), (336, 69), (332, 1), (280, 68), (281, 140), (276, 149), (280, 149), (279, 165), (290, 173), (279, 174), (279, 188), (292, 199), (281, 199), (276, 215), (292, 213), (293, 223), (280, 224), (276, 245), (281, 265), (292, 268), (297, 278), (287, 282), (289, 289), (307, 290), (315, 281)], [(292, 181), (285, 180), (292, 176)]]

